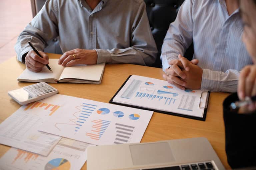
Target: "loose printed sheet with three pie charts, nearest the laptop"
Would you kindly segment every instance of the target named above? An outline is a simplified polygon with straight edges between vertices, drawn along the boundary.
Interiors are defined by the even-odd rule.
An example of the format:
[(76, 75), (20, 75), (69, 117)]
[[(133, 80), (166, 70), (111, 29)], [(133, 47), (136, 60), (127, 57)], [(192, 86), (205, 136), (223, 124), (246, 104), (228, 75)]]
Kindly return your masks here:
[(95, 145), (140, 142), (152, 111), (56, 94), (64, 103), (38, 130)]

